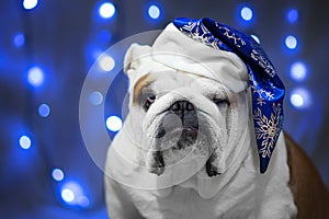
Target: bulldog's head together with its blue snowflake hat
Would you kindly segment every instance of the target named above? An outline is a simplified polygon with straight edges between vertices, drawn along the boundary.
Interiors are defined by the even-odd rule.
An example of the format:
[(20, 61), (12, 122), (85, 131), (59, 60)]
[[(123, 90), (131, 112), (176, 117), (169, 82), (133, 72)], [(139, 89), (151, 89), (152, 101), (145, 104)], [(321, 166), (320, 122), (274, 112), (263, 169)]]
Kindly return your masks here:
[[(253, 132), (264, 172), (281, 130), (284, 90), (280, 93), (281, 81), (263, 50), (253, 41), (247, 44), (247, 36), (207, 22), (213, 21), (178, 20), (152, 46), (134, 44), (125, 57), (129, 138), (143, 151), (141, 162), (157, 175), (197, 160), (204, 161), (208, 176), (220, 174), (246, 153), (250, 146), (245, 140)], [(212, 33), (234, 44), (227, 46)], [(273, 118), (272, 132), (262, 132), (263, 118)]]

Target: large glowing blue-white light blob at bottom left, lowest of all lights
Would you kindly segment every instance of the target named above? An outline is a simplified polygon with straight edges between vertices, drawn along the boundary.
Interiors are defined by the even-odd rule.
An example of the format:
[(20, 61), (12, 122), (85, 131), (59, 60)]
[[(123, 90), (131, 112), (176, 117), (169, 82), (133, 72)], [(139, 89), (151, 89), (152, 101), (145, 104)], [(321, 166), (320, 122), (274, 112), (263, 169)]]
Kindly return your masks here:
[(90, 205), (89, 198), (83, 193), (81, 185), (76, 182), (67, 182), (60, 189), (60, 197), (68, 206), (88, 207)]

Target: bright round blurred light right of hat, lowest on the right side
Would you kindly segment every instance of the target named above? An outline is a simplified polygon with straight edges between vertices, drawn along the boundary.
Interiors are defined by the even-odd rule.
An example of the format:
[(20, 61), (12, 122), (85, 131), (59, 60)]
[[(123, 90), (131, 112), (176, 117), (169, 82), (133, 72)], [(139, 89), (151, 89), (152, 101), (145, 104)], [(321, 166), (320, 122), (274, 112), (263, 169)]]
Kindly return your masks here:
[(304, 88), (294, 89), (290, 96), (291, 104), (297, 110), (308, 108), (311, 104), (311, 96)]

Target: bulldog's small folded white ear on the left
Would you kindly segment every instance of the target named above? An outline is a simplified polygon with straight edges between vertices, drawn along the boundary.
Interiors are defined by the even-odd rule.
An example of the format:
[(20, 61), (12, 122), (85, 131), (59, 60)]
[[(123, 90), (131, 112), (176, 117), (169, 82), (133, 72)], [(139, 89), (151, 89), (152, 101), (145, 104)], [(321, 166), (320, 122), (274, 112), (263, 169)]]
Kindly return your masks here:
[(140, 67), (141, 60), (149, 57), (151, 47), (148, 45), (132, 44), (126, 51), (124, 59), (124, 72), (132, 78), (138, 73), (136, 70)]

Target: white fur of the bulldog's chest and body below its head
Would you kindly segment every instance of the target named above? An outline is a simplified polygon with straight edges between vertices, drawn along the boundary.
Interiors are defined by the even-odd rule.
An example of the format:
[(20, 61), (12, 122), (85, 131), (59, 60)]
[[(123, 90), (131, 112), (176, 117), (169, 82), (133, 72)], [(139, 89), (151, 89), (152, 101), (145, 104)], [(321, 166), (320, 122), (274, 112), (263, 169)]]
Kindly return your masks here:
[[(242, 147), (235, 146), (241, 151), (235, 158), (226, 157), (234, 162), (222, 175), (208, 177), (204, 169), (198, 170), (200, 163), (207, 159), (201, 157), (188, 166), (177, 166), (181, 170), (169, 171), (168, 178), (175, 178), (175, 183), (168, 187), (168, 178), (161, 184), (163, 181), (158, 180), (159, 176), (149, 174), (145, 169), (143, 150), (132, 143), (134, 132), (140, 132), (129, 130), (129, 116), (107, 153), (106, 205), (111, 218), (280, 219), (296, 215), (288, 187), (290, 172), (283, 135), (279, 138), (269, 170), (260, 174), (252, 119), (249, 117), (248, 128), (243, 128), (246, 136), (239, 136)], [(188, 178), (184, 175), (188, 169), (196, 174), (183, 181)]]

